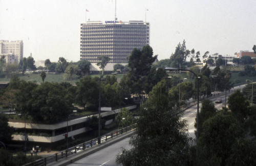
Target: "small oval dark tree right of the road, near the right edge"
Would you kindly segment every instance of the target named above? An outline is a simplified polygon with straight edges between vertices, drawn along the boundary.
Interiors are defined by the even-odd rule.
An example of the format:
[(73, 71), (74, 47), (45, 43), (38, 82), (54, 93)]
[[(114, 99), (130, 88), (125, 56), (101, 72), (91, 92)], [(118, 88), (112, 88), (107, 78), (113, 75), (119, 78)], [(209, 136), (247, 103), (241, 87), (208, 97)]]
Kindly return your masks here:
[(235, 91), (228, 97), (227, 103), (231, 112), (243, 121), (244, 117), (247, 115), (247, 110), (250, 105), (244, 97), (244, 94), (240, 92), (240, 90)]

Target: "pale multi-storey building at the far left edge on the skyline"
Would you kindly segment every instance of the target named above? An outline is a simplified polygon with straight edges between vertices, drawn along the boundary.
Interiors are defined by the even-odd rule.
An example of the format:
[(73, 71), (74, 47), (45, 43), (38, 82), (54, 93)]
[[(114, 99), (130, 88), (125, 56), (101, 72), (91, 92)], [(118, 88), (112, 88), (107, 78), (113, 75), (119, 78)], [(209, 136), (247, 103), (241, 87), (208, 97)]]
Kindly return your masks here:
[(17, 63), (23, 58), (23, 41), (0, 40), (0, 54), (17, 56)]

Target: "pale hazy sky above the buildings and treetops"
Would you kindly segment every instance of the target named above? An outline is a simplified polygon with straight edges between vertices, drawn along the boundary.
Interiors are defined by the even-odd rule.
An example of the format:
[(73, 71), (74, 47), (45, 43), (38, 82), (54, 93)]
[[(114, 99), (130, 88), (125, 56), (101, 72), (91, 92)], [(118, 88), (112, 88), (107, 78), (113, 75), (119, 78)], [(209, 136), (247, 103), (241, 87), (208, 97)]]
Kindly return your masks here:
[[(89, 12), (86, 12), (86, 9)], [(233, 55), (256, 44), (255, 0), (117, 0), (117, 18), (151, 24), (151, 46), (169, 58), (188, 50)], [(114, 20), (115, 0), (0, 0), (0, 40), (23, 40), (24, 57), (79, 60), (80, 23)]]

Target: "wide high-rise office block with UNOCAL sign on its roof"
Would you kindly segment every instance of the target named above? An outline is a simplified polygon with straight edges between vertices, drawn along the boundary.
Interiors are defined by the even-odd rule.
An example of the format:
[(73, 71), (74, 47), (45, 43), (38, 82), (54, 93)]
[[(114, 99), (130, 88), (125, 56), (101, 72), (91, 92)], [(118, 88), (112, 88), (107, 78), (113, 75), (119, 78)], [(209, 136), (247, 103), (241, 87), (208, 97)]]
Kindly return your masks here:
[(127, 63), (134, 48), (150, 44), (150, 23), (143, 21), (87, 21), (80, 27), (80, 60), (97, 63), (108, 56), (110, 63)]

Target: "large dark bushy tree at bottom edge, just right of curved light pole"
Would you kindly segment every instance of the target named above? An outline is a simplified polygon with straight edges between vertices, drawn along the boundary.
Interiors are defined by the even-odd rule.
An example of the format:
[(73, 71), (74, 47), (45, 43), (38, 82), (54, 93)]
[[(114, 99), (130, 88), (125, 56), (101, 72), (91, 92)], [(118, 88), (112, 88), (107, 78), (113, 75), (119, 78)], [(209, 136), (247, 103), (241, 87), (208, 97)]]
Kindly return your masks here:
[(203, 123), (198, 139), (200, 165), (226, 165), (234, 141), (243, 129), (230, 112), (220, 111)]

